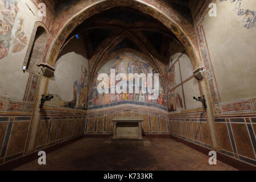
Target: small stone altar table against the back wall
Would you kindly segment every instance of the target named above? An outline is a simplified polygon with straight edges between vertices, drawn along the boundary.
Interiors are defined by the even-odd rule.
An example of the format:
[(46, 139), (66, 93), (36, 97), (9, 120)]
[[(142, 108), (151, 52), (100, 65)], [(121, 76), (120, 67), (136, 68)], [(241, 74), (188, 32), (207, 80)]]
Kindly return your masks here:
[(113, 139), (130, 138), (142, 140), (142, 122), (140, 117), (115, 117)]

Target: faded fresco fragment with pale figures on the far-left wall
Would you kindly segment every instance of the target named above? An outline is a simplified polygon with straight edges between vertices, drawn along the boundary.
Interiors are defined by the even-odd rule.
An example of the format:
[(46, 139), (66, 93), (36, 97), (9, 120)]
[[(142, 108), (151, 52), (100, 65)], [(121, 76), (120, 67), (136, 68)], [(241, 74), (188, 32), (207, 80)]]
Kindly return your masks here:
[(20, 0), (0, 0), (0, 59), (27, 45)]

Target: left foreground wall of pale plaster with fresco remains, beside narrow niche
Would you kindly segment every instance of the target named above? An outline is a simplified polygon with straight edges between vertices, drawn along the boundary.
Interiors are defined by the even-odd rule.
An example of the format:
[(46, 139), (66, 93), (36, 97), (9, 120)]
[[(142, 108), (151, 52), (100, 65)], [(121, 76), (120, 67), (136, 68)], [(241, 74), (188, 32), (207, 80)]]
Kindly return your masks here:
[(34, 24), (43, 18), (38, 16), (38, 7), (31, 1), (15, 0), (10, 2), (10, 6), (9, 9), (13, 13), (11, 18), (8, 16), (9, 9), (5, 2), (0, 1), (0, 99), (22, 101), (29, 75), (22, 71), (24, 57)]

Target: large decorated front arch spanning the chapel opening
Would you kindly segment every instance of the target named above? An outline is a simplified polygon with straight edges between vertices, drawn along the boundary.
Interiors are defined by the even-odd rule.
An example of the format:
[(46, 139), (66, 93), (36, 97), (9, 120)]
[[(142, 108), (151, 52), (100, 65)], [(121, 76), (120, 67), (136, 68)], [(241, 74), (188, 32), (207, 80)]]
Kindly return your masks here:
[(94, 14), (117, 6), (137, 9), (162, 22), (183, 44), (192, 60), (193, 67), (197, 68), (202, 65), (195, 28), (183, 16), (158, 0), (95, 0), (77, 3), (68, 11), (60, 14), (52, 24), (52, 36), (47, 44), (44, 62), (54, 66), (65, 39), (81, 22)]

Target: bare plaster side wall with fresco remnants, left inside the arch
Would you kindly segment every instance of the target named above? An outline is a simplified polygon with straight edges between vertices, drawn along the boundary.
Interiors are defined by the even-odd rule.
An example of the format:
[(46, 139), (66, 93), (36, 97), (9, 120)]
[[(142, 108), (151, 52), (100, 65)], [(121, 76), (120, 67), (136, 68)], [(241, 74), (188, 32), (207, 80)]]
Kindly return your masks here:
[(88, 86), (88, 60), (84, 42), (72, 38), (60, 52), (54, 77), (49, 80), (48, 94), (53, 95), (50, 106), (85, 109)]

